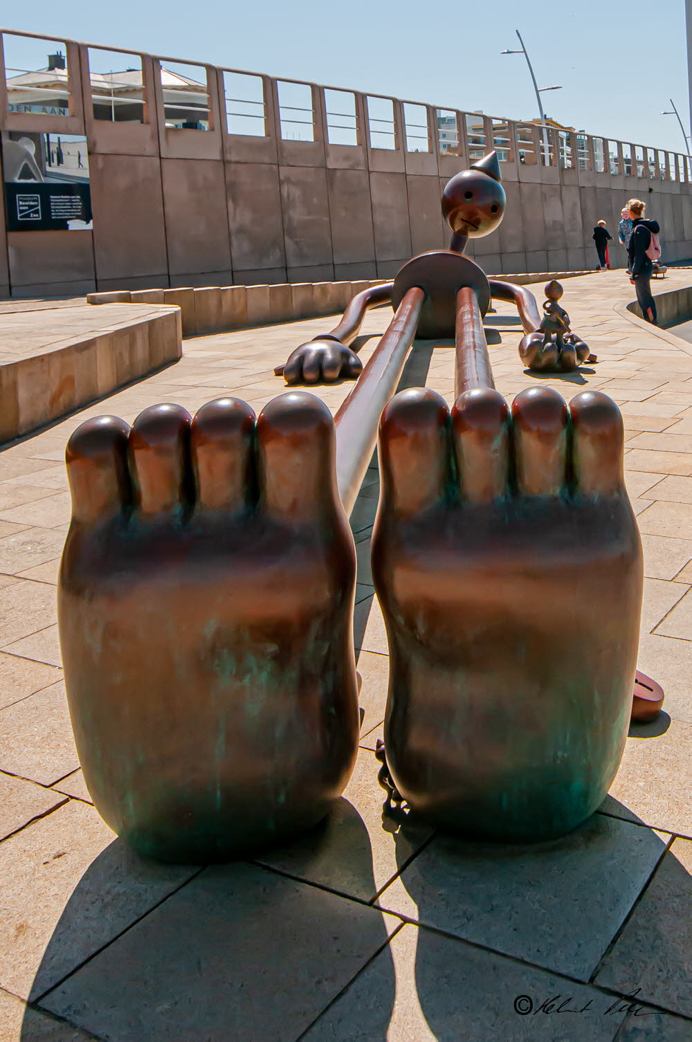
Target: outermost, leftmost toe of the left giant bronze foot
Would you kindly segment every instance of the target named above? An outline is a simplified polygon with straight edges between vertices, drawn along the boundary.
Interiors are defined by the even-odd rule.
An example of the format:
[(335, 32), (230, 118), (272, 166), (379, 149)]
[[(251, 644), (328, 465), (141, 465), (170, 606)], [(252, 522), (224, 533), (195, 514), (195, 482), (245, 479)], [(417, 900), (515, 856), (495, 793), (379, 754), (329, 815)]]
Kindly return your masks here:
[(75, 521), (112, 517), (129, 503), (128, 430), (117, 416), (99, 416), (86, 420), (70, 438), (66, 463)]

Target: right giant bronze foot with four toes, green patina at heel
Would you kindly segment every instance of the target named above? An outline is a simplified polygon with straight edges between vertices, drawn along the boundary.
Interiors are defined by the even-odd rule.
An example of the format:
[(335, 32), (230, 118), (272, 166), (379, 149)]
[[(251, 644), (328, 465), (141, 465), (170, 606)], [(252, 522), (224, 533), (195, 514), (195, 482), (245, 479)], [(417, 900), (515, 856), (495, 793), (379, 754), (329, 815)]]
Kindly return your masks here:
[(642, 596), (622, 420), (599, 392), (398, 394), (373, 575), (393, 785), (434, 822), (533, 841), (601, 802), (629, 722)]

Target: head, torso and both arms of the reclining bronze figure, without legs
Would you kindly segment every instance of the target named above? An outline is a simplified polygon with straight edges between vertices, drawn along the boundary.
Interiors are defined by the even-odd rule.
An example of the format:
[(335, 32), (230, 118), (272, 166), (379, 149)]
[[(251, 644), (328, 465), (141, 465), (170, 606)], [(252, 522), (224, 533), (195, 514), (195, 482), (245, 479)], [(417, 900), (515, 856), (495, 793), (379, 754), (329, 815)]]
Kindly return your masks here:
[[(453, 337), (456, 293), (463, 286), (472, 286), (483, 315), (491, 299), (508, 301), (517, 307), (525, 333), (519, 355), (528, 368), (541, 372), (570, 372), (582, 361), (595, 361), (589, 355), (586, 344), (569, 329), (562, 330), (565, 334), (559, 346), (548, 349), (546, 330), (541, 328), (542, 320), (533, 293), (525, 287), (501, 279), (488, 279), (464, 254), (469, 239), (488, 235), (500, 224), (506, 203), (501, 180), (494, 151), (472, 164), (469, 170), (455, 174), (445, 185), (442, 196), (442, 213), (452, 231), (449, 249), (421, 253), (399, 270), (393, 282), (357, 294), (335, 329), (297, 347), (285, 365), (276, 367), (275, 374), (283, 375), (290, 386), (356, 379), (362, 365), (350, 345), (366, 312), (387, 302), (396, 308), (412, 286), (420, 287), (426, 294), (418, 329), (420, 337)], [(562, 295), (560, 283), (554, 284)]]

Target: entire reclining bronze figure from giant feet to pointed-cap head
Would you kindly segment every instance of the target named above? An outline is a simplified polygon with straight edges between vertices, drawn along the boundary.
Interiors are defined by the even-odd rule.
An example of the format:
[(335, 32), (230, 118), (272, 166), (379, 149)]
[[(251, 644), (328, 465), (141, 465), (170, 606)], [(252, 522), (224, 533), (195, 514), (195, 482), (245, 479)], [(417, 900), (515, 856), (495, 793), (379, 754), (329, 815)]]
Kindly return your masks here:
[[(400, 787), (452, 827), (537, 839), (591, 813), (617, 767), (641, 600), (622, 423), (597, 393), (577, 396), (568, 422), (545, 388), (519, 395), (510, 420), (493, 390), (491, 293), (514, 300), (545, 357), (558, 334), (553, 354), (569, 355), (569, 320), (558, 283), (539, 329), (532, 294), (489, 282), (464, 256), (466, 229), (501, 219), (487, 159), (447, 187), (455, 248), (414, 257), (294, 352), (293, 372), (313, 381), (355, 375), (348, 343), (368, 306), (393, 302), (336, 421), (298, 392), (258, 418), (236, 399), (194, 420), (157, 405), (131, 429), (102, 417), (70, 440), (58, 586), (68, 698), (95, 805), (142, 853), (247, 855), (311, 827), (341, 793), (357, 742), (346, 514), (416, 331), (450, 324), (451, 420), (439, 396), (416, 391), (381, 421), (373, 573), (392, 654), (390, 794)], [(582, 661), (585, 640), (602, 648), (593, 661)], [(477, 748), (460, 766), (462, 721)]]

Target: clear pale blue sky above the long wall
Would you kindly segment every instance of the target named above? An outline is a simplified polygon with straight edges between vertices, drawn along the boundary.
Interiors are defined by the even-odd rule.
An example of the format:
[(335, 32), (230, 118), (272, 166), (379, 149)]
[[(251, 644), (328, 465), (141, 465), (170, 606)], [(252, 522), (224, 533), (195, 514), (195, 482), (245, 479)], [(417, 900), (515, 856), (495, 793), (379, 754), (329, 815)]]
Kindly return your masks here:
[[(546, 115), (607, 138), (682, 151), (689, 131), (684, 0), (32, 0), (4, 27), (532, 119), (526, 44)], [(633, 65), (650, 68), (647, 77)]]

